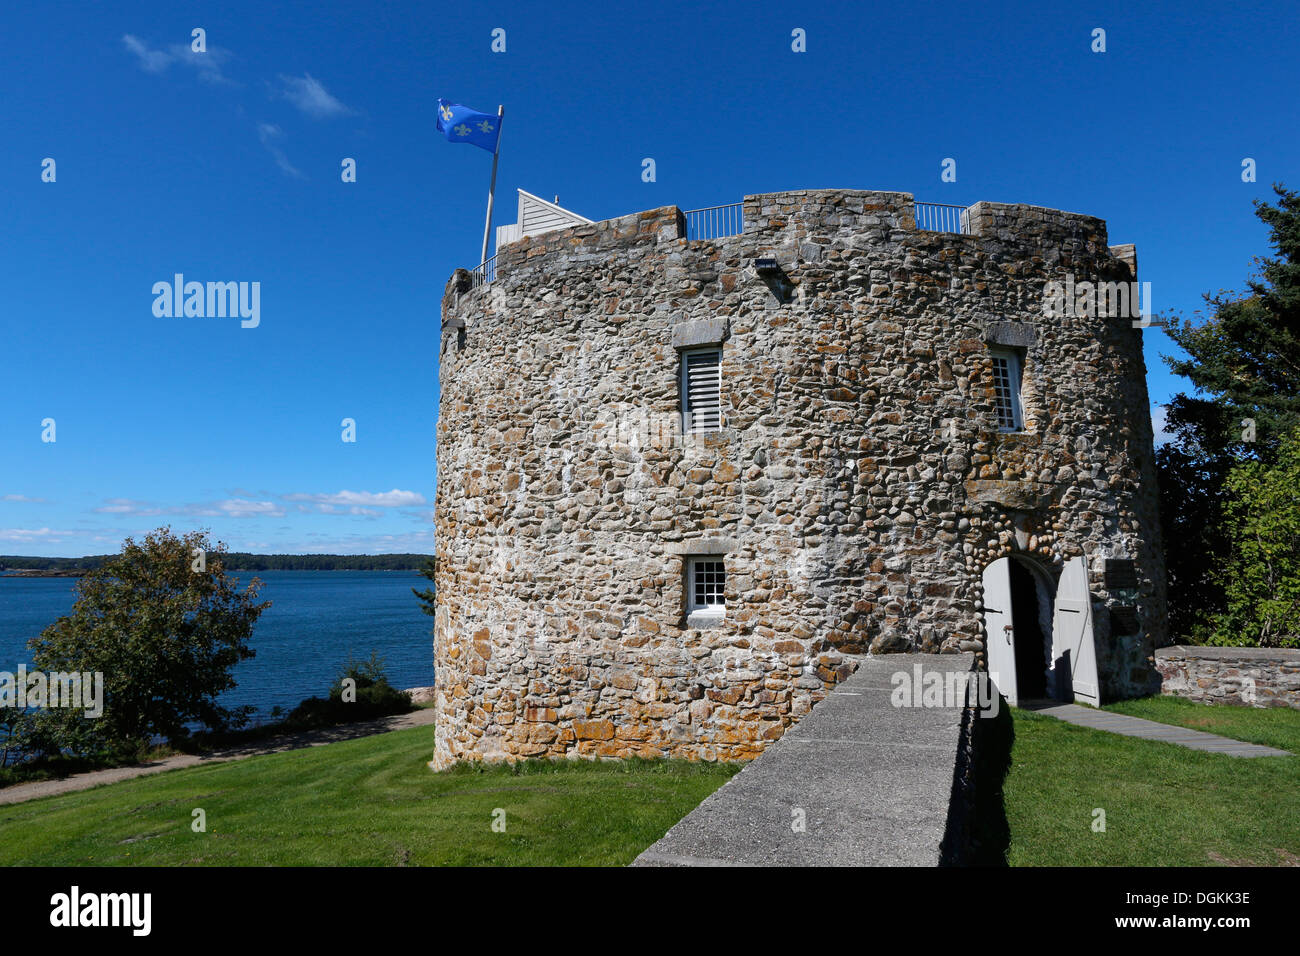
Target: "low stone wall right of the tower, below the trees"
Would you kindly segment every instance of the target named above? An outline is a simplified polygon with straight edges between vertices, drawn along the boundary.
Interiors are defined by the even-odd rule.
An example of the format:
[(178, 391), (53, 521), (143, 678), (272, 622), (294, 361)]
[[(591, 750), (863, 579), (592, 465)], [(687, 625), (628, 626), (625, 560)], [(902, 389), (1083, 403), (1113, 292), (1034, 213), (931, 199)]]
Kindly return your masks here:
[(1300, 650), (1193, 648), (1156, 652), (1161, 692), (1205, 704), (1300, 710)]

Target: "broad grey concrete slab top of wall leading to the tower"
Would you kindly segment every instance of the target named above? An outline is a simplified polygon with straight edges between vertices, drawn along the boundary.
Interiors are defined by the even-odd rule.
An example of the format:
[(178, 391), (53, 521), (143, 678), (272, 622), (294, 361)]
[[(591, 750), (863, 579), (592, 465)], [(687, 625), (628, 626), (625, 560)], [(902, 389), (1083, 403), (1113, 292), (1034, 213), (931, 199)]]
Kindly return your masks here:
[(858, 670), (633, 866), (935, 866), (961, 708), (896, 708), (890, 678), (970, 671), (970, 654), (888, 654)]

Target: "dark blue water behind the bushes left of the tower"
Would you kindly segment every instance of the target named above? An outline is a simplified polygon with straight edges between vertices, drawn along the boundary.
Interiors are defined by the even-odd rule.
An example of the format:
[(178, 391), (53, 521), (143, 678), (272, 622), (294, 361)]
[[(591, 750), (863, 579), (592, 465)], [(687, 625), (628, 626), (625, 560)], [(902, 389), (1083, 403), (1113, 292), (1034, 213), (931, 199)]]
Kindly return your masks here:
[[(348, 657), (385, 658), (394, 687), (433, 683), (433, 618), (411, 588), (428, 580), (415, 571), (247, 571), (260, 578), (260, 600), (272, 605), (252, 632), (256, 657), (235, 667), (226, 706), (251, 704), (257, 718), (304, 697), (324, 697)], [(73, 607), (73, 578), (0, 578), (0, 670), (31, 663), (27, 641)]]

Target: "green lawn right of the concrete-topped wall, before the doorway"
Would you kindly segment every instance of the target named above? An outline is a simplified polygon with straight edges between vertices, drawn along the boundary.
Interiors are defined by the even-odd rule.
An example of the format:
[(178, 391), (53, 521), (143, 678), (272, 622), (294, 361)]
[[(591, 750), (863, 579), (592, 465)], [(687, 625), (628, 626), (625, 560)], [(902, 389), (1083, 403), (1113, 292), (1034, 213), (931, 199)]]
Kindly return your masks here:
[[(1290, 741), (1296, 749), (1300, 740), (1300, 711), (1169, 704), (1138, 701), (1123, 713), (1164, 714), (1165, 723), (1183, 723), (1171, 715), (1213, 721), (1184, 726), (1282, 748)], [(1196, 710), (1183, 714), (1180, 704)], [(1023, 710), (1013, 717), (1005, 784), (1011, 865), (1300, 862), (1300, 757), (1228, 757)], [(1097, 808), (1106, 813), (1105, 832), (1092, 830)]]

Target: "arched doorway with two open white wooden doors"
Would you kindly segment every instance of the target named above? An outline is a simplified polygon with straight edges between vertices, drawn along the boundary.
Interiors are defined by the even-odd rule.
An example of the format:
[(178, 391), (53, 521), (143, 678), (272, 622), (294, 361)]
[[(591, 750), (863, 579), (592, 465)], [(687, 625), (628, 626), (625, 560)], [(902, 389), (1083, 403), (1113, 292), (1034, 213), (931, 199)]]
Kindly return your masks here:
[(1069, 561), (1058, 581), (1020, 554), (985, 567), (984, 637), (989, 676), (1011, 706), (1100, 704), (1086, 558)]

